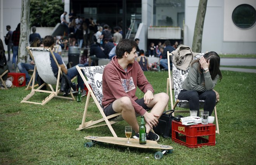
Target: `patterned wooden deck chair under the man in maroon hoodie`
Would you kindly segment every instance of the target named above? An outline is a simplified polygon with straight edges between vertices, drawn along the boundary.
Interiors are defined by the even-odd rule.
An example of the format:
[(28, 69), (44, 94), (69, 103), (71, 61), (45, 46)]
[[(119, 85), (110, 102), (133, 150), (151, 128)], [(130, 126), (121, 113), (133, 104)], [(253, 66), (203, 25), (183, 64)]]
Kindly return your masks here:
[[(76, 130), (82, 130), (82, 129), (88, 129), (88, 128), (93, 128), (93, 127), (100, 127), (103, 125), (107, 125), (114, 137), (118, 137), (116, 135), (116, 132), (112, 128), (112, 124), (119, 122), (123, 120), (123, 117), (121, 116), (121, 113), (115, 113), (113, 115), (109, 115), (106, 117), (105, 113), (103, 112), (103, 107), (102, 107), (102, 74), (104, 70), (105, 65), (102, 66), (91, 66), (91, 67), (78, 67), (76, 66), (76, 69), (78, 70), (80, 76), (82, 77), (83, 81), (85, 82), (86, 87), (88, 88), (88, 94), (85, 102), (85, 110), (83, 113), (83, 119), (81, 125), (79, 125), (79, 128)], [(85, 79), (85, 76), (83, 75), (83, 72), (85, 73), (86, 78), (88, 81)], [(90, 86), (92, 89), (90, 88)], [(88, 121), (85, 122), (86, 119), (86, 114), (87, 114), (87, 108), (90, 100), (90, 96), (92, 96), (93, 101), (97, 105), (97, 108), (99, 109), (102, 119), (96, 120), (96, 121)], [(111, 120), (109, 120), (111, 119)], [(100, 122), (105, 122), (105, 124), (99, 124)]]

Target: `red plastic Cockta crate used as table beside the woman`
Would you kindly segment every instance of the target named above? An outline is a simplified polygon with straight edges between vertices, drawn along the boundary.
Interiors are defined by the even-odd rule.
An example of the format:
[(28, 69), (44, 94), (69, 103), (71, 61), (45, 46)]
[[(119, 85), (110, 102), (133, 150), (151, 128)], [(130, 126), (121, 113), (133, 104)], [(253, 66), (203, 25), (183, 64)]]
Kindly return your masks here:
[(190, 148), (215, 146), (215, 124), (182, 125), (172, 121), (172, 140)]

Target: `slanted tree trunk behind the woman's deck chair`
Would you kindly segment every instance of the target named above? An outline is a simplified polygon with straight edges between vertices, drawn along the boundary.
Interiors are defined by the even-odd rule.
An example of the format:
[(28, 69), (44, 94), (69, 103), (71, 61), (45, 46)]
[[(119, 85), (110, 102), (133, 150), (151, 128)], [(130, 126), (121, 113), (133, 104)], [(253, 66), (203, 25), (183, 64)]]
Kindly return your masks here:
[(202, 51), (202, 33), (204, 29), (204, 17), (206, 13), (207, 0), (200, 0), (195, 21), (195, 30), (192, 44), (192, 51), (201, 53)]

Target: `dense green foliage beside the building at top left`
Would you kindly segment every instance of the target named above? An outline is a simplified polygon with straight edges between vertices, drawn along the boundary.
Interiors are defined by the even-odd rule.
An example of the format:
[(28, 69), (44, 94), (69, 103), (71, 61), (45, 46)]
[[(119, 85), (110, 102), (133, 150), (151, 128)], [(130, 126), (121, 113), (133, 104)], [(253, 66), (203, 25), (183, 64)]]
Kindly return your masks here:
[(30, 26), (54, 27), (63, 12), (62, 0), (30, 0)]

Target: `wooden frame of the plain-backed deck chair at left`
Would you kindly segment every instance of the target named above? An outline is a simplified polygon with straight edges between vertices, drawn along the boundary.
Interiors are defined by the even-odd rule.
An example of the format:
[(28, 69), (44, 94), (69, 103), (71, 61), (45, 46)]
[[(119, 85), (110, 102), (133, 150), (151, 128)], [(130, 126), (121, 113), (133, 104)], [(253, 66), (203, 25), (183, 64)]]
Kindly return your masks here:
[[(58, 93), (60, 92), (59, 89), (59, 81), (60, 81), (60, 76), (62, 74), (61, 71), (61, 67), (59, 66), (54, 53), (52, 52), (51, 48), (49, 48), (48, 50), (45, 50), (49, 53), (51, 53), (52, 57), (54, 58), (55, 63), (57, 64), (57, 67), (59, 68), (58, 71), (58, 76), (57, 76), (57, 82), (56, 84), (48, 84), (46, 82), (44, 82), (41, 86), (39, 86), (37, 89), (35, 89), (35, 74), (36, 74), (36, 65), (40, 65), (40, 63), (38, 64), (38, 62), (34, 59), (33, 57), (33, 52), (32, 51), (38, 51), (41, 50), (42, 51), (42, 47), (27, 47), (28, 51), (29, 51), (29, 55), (32, 57), (32, 59), (35, 61), (35, 68), (34, 68), (34, 72), (33, 72), (33, 82), (32, 82), (32, 88), (31, 88), (31, 93), (29, 93), (26, 97), (23, 98), (23, 100), (21, 101), (21, 103), (33, 103), (33, 104), (40, 104), (40, 105), (45, 105), (48, 101), (50, 101), (52, 98), (63, 98), (63, 99), (68, 99), (68, 100), (75, 100), (72, 92), (70, 92), (71, 97), (64, 97), (64, 96), (58, 96)], [(40, 73), (38, 73), (38, 75), (40, 76)], [(48, 85), (50, 87), (50, 91), (46, 91), (46, 90), (41, 90), (41, 88), (44, 85)], [(52, 85), (56, 85), (56, 88), (54, 89), (52, 87)], [(49, 93), (49, 96), (47, 96), (45, 98), (45, 100), (43, 100), (41, 103), (38, 102), (33, 102), (33, 101), (28, 101), (29, 98), (31, 98), (36, 92), (40, 92), (40, 93)]]

